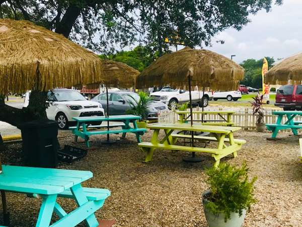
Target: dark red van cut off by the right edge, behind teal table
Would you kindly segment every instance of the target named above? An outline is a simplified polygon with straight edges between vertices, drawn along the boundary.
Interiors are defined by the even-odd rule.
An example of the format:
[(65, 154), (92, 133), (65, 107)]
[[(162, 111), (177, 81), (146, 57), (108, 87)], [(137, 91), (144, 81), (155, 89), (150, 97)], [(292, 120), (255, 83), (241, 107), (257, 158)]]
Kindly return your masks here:
[(302, 110), (302, 85), (281, 86), (276, 94), (275, 106), (284, 110)]

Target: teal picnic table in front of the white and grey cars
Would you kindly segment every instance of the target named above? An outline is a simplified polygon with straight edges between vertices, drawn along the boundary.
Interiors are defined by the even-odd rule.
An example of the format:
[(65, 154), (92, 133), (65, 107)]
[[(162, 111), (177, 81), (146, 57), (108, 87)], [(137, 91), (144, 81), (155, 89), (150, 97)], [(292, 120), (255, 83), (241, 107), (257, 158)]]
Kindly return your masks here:
[[(77, 127), (69, 127), (72, 130), (75, 138), (74, 141), (77, 142), (78, 137), (85, 139), (86, 146), (89, 145), (89, 137), (93, 135), (105, 135), (105, 134), (120, 134), (125, 138), (126, 133), (134, 133), (136, 135), (137, 142), (140, 143), (140, 136), (144, 134), (146, 129), (137, 128), (136, 121), (140, 120), (141, 117), (135, 115), (115, 115), (115, 116), (102, 116), (102, 117), (78, 117), (73, 118), (77, 122)], [(122, 129), (118, 130), (97, 130), (97, 131), (88, 131), (87, 125), (93, 122), (122, 122)], [(132, 123), (133, 127), (130, 126)]]

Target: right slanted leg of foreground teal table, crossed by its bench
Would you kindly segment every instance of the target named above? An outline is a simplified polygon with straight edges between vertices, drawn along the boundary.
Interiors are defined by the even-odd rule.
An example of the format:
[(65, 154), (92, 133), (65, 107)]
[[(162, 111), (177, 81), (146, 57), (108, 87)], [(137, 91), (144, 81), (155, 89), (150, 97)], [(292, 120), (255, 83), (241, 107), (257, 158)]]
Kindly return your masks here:
[[(72, 195), (74, 196), (75, 202), (77, 202), (79, 207), (88, 202), (81, 184), (74, 185), (73, 187), (71, 187), (70, 190), (71, 190)], [(99, 225), (95, 214), (91, 214), (89, 217), (87, 217), (85, 222), (86, 222), (86, 225), (89, 227)]]

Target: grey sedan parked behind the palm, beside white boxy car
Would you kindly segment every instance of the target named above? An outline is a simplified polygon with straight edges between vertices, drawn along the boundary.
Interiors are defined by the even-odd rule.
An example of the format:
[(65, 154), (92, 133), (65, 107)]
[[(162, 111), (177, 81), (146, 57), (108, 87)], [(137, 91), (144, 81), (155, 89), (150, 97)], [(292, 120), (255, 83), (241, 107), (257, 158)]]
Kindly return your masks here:
[[(138, 94), (128, 91), (110, 91), (109, 95), (109, 115), (124, 115), (128, 109), (131, 109), (139, 101)], [(106, 93), (95, 96), (93, 101), (102, 104), (107, 110), (107, 95)], [(147, 119), (157, 119), (159, 110), (168, 109), (168, 106), (161, 101), (153, 101), (148, 106)]]

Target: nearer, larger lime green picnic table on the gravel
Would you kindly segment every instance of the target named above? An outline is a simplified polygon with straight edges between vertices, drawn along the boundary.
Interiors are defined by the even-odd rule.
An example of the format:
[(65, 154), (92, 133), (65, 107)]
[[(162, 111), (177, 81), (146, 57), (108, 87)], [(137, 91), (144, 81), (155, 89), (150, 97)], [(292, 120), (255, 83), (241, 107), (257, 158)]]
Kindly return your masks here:
[[(200, 124), (191, 126), (187, 123), (176, 123), (152, 124), (148, 125), (147, 128), (154, 130), (151, 141), (138, 144), (138, 147), (142, 151), (146, 152), (145, 162), (152, 160), (155, 149), (165, 149), (210, 153), (215, 159), (214, 166), (217, 167), (219, 165), (220, 159), (225, 157), (226, 155), (233, 154), (234, 157), (237, 157), (237, 151), (241, 149), (242, 144), (246, 143), (245, 140), (234, 139), (234, 132), (239, 131), (241, 129), (240, 127), (206, 126)], [(165, 132), (165, 137), (163, 139), (159, 138), (161, 130)], [(217, 147), (203, 148), (175, 145), (177, 139), (191, 138), (191, 135), (173, 133), (174, 131), (209, 132), (213, 135), (213, 137), (194, 136), (194, 139), (216, 142)]]

